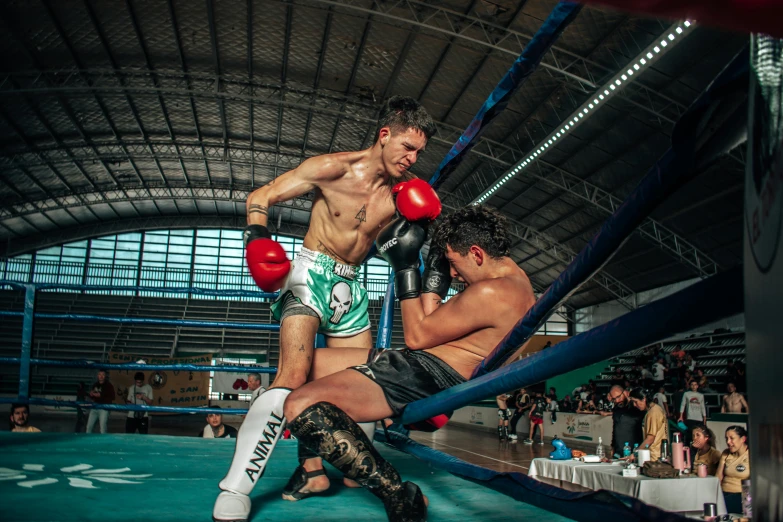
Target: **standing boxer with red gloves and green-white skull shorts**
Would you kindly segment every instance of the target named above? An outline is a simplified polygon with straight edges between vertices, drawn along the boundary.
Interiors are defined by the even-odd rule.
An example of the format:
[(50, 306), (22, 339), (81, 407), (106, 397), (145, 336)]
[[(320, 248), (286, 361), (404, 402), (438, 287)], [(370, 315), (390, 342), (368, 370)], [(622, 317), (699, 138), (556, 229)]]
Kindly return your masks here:
[[(357, 281), (359, 265), (395, 211), (414, 222), (440, 214), (432, 188), (408, 173), (434, 131), (418, 102), (393, 97), (384, 106), (372, 147), (307, 159), (249, 195), (245, 257), (262, 290), (280, 289), (272, 305), (280, 321), (280, 361), (272, 386), (252, 404), (239, 430), (231, 467), (219, 484), (214, 520), (247, 520), (248, 495), (283, 431), (283, 403), (310, 372), (316, 333), (326, 336), (328, 348), (372, 346), (367, 292)], [(310, 226), (296, 260), (289, 263), (266, 227), (268, 211), (311, 191)], [(367, 352), (360, 353), (366, 361)], [(316, 458), (304, 462), (308, 456)], [(287, 493), (297, 499), (311, 464), (321, 469), (313, 473), (323, 475), (317, 455), (300, 457), (284, 498)]]

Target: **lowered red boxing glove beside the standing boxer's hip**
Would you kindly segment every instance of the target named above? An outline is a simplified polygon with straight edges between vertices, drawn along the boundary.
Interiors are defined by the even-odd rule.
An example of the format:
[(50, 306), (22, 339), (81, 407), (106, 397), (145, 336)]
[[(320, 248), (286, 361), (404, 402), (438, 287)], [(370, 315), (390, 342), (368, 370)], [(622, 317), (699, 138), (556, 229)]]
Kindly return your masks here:
[(268, 234), (266, 227), (261, 225), (250, 225), (245, 229), (245, 259), (258, 287), (264, 292), (276, 292), (283, 287), (291, 262), (280, 243), (269, 238)]

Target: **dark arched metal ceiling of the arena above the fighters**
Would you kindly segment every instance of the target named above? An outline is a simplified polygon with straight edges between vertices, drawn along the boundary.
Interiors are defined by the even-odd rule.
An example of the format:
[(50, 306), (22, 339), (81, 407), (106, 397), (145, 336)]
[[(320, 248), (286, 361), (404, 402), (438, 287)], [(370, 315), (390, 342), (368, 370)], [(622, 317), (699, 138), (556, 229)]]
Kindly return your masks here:
[[(247, 194), (304, 158), (367, 147), (383, 99), (419, 99), (441, 159), (553, 0), (33, 0), (0, 4), (0, 255), (101, 234), (241, 227)], [(440, 189), (469, 202), (671, 22), (585, 7)], [(668, 148), (746, 43), (696, 28), (489, 203), (545, 288)], [(740, 262), (742, 151), (667, 201), (581, 307)], [(274, 210), (301, 235), (310, 198)]]

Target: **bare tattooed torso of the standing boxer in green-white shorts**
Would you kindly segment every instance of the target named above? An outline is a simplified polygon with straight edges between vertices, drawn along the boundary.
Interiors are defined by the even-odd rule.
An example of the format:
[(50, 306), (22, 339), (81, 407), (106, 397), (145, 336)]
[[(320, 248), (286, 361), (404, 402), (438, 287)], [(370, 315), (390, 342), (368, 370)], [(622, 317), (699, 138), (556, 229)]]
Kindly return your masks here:
[[(343, 153), (346, 172), (315, 189), (304, 247), (340, 263), (359, 265), (394, 216), (392, 182), (370, 173), (361, 153)], [(358, 161), (357, 161), (358, 160)], [(402, 180), (400, 180), (402, 181)]]

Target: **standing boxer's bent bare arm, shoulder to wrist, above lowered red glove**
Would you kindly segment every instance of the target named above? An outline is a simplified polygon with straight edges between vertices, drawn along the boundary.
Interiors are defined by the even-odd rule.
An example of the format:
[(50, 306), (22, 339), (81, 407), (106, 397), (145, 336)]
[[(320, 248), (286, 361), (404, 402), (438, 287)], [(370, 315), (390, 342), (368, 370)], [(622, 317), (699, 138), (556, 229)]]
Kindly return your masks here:
[(247, 198), (247, 224), (266, 226), (272, 205), (307, 194), (322, 183), (338, 179), (346, 171), (345, 163), (330, 154), (303, 161), (295, 169), (250, 193)]

